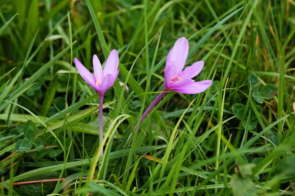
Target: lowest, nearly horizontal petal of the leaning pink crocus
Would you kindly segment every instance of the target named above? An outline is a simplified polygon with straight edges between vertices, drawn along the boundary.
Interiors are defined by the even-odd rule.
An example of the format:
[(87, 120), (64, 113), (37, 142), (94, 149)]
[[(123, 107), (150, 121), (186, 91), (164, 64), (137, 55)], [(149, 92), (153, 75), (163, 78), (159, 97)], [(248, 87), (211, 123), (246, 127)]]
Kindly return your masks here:
[(206, 91), (207, 88), (211, 86), (211, 84), (212, 80), (203, 80), (200, 82), (195, 82), (189, 86), (173, 89), (173, 91), (183, 94), (198, 94)]

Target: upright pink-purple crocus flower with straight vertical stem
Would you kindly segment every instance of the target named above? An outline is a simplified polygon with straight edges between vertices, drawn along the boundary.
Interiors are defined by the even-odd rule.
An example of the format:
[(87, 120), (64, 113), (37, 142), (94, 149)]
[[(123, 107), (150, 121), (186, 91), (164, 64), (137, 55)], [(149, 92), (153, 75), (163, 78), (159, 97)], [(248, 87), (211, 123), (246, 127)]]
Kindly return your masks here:
[[(85, 81), (99, 94), (99, 142), (101, 144), (103, 140), (103, 97), (105, 92), (113, 86), (114, 82), (118, 77), (118, 52), (116, 49), (111, 51), (103, 71), (100, 61), (98, 60), (98, 57), (95, 54), (93, 55), (92, 63), (94, 76), (84, 67), (84, 65), (77, 58), (75, 58), (75, 64), (78, 69), (78, 72), (83, 77), (83, 79), (85, 79)], [(103, 154), (103, 150), (101, 154)]]

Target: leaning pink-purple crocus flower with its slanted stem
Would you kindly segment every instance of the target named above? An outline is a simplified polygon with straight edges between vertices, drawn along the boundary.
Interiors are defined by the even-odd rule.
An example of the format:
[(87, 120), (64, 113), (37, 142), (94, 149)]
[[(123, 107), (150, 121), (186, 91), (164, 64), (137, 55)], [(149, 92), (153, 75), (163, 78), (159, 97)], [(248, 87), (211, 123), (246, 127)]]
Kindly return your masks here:
[[(165, 86), (163, 91), (175, 91), (183, 94), (198, 94), (206, 91), (212, 84), (212, 80), (195, 82), (192, 78), (197, 76), (204, 66), (204, 61), (195, 62), (193, 65), (184, 68), (188, 55), (188, 41), (185, 37), (179, 38), (170, 50), (165, 67)], [(183, 71), (182, 71), (183, 70)], [(141, 117), (140, 123), (147, 117), (150, 110), (163, 98), (166, 93), (160, 93), (157, 98), (148, 106)], [(137, 129), (137, 126), (134, 127)]]

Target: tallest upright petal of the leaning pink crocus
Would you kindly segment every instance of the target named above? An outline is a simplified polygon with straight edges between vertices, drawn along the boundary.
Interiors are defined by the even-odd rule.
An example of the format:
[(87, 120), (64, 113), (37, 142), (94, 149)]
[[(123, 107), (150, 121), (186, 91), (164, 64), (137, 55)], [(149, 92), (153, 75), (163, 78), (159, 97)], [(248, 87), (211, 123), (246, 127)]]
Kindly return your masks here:
[(171, 61), (176, 64), (175, 74), (181, 73), (188, 55), (188, 42), (185, 37), (179, 38), (173, 46)]

